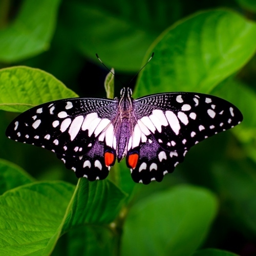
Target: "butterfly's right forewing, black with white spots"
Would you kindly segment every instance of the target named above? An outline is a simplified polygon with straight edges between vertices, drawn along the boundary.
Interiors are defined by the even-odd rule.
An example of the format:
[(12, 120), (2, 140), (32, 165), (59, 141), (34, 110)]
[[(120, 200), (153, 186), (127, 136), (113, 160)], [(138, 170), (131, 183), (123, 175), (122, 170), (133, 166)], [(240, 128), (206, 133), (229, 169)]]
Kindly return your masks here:
[(141, 132), (149, 132), (168, 151), (189, 149), (243, 120), (230, 102), (200, 93), (165, 93), (138, 98), (134, 115)]

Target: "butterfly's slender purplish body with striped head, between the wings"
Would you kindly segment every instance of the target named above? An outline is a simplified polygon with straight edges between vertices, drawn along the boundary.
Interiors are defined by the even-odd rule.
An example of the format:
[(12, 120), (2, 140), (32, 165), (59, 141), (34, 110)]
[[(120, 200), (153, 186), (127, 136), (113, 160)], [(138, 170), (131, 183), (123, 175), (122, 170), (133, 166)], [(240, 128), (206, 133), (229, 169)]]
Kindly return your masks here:
[(120, 162), (127, 153), (127, 144), (132, 136), (132, 111), (133, 98), (132, 90), (130, 88), (123, 88), (121, 90), (121, 98), (119, 100), (118, 117), (115, 130), (117, 138), (117, 161)]

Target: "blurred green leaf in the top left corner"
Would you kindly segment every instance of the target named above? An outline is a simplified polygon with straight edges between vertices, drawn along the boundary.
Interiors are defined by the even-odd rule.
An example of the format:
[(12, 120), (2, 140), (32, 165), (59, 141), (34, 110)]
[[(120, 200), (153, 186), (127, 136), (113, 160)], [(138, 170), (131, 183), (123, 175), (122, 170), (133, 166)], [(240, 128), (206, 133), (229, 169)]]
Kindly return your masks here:
[(0, 30), (0, 60), (20, 61), (50, 46), (60, 0), (25, 0), (14, 22)]

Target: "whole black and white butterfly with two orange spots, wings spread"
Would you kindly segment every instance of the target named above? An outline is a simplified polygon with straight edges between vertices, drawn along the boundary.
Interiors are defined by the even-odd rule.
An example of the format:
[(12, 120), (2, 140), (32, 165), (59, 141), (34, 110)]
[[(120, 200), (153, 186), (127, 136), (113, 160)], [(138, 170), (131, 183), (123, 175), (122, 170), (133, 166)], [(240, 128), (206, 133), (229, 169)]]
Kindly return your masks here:
[(54, 152), (78, 178), (105, 179), (126, 157), (135, 182), (162, 181), (189, 148), (243, 120), (216, 96), (173, 92), (132, 98), (70, 98), (35, 106), (7, 127), (12, 140)]

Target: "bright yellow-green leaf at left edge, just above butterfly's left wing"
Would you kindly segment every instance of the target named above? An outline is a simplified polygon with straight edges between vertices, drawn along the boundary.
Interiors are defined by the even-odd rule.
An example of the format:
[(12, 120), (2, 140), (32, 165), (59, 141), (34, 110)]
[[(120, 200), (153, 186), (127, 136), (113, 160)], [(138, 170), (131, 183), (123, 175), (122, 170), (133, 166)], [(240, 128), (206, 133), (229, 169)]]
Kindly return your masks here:
[(77, 97), (51, 74), (28, 67), (0, 70), (0, 109), (23, 112), (32, 106)]

